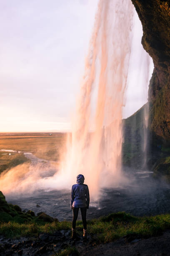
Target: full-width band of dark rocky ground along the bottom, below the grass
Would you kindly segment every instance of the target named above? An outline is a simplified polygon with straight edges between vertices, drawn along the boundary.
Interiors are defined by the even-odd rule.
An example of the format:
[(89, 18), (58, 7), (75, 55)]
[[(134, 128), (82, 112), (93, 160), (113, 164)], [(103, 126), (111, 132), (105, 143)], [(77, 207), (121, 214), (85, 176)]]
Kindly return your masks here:
[[(170, 230), (161, 236), (139, 239), (126, 236), (115, 242), (96, 245), (94, 237), (87, 236), (87, 240), (77, 235), (71, 239), (70, 230), (60, 230), (53, 234), (42, 233), (37, 238), (7, 239), (0, 236), (0, 255), (55, 255), (68, 246), (75, 246), (81, 256), (168, 256), (170, 255)], [(75, 253), (70, 256), (76, 255)]]

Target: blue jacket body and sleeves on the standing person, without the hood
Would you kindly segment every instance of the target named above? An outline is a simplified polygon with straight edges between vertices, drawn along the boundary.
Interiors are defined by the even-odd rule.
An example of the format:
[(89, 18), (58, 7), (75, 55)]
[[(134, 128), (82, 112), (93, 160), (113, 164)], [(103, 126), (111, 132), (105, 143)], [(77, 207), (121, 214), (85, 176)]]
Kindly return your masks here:
[(71, 207), (89, 207), (89, 189), (86, 184), (74, 184), (71, 189)]

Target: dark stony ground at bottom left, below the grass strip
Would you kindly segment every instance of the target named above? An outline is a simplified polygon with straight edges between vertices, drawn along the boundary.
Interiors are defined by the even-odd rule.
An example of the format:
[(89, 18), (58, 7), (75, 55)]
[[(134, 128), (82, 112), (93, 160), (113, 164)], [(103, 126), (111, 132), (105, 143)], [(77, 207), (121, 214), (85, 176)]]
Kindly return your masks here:
[(0, 236), (0, 255), (54, 255), (74, 243), (70, 230), (60, 230), (53, 234), (41, 233), (37, 238), (7, 239)]

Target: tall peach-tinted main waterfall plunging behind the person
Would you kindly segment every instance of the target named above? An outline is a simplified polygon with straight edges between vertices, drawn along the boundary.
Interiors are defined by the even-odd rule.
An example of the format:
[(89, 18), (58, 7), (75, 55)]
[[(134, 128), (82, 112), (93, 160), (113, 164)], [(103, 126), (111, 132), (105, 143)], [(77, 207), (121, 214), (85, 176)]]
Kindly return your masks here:
[(77, 174), (84, 174), (91, 195), (97, 195), (100, 185), (120, 181), (122, 106), (132, 18), (130, 0), (100, 0), (98, 4), (72, 134), (60, 171), (67, 181), (70, 178), (69, 183), (75, 182)]

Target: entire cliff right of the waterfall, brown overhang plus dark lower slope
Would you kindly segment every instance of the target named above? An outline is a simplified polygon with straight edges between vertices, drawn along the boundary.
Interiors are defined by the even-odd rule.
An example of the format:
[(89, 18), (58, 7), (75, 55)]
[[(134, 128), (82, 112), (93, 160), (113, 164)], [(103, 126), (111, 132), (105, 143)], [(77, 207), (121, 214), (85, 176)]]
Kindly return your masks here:
[[(153, 169), (170, 181), (170, 0), (132, 0), (143, 26), (143, 48), (154, 63), (148, 103), (124, 123), (123, 164)], [(148, 129), (144, 125), (149, 113)], [(144, 149), (145, 139), (148, 143)]]

